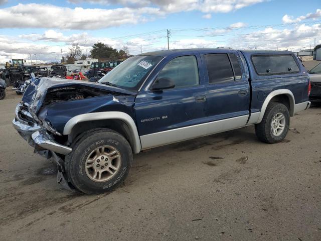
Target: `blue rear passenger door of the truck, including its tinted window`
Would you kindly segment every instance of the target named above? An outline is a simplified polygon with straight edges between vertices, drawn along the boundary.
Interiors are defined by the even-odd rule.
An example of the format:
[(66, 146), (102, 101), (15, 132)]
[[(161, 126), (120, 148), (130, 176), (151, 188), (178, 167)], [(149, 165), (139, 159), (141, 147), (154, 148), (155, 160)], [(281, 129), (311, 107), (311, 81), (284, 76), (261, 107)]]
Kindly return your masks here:
[(202, 56), (208, 73), (205, 115), (209, 121), (238, 117), (237, 126), (230, 129), (245, 126), (250, 89), (239, 53), (231, 51)]

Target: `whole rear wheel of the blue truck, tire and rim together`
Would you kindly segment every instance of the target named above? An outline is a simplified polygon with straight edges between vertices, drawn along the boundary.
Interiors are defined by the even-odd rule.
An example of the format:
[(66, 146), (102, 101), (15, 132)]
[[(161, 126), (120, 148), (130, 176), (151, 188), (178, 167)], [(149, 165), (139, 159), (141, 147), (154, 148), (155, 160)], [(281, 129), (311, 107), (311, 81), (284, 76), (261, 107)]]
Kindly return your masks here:
[(255, 125), (257, 138), (265, 143), (281, 142), (290, 126), (290, 113), (284, 104), (271, 102), (268, 104), (262, 122)]

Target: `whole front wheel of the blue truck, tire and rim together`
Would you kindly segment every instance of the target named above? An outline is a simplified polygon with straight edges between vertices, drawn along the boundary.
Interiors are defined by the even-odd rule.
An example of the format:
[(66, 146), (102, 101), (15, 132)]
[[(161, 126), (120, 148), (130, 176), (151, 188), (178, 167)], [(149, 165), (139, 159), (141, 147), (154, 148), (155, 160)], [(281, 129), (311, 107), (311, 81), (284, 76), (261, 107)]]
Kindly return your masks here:
[(108, 129), (85, 134), (67, 155), (65, 168), (71, 183), (87, 194), (108, 192), (125, 180), (132, 165), (127, 140)]

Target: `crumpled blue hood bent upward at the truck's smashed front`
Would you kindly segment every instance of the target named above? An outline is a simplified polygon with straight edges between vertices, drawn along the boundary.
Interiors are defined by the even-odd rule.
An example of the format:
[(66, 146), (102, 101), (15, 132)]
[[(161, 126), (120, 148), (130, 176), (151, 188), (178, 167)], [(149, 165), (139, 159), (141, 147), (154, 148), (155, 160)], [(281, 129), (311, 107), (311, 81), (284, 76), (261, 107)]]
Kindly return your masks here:
[(75, 86), (92, 87), (92, 88), (97, 88), (97, 89), (111, 91), (111, 92), (117, 92), (117, 93), (126, 94), (126, 95), (137, 94), (137, 92), (135, 91), (130, 91), (130, 90), (121, 89), (121, 88), (99, 84), (99, 83), (92, 83), (92, 82), (80, 81), (80, 80), (67, 80), (67, 79), (43, 77), (41, 79), (36, 79), (34, 82), (32, 82), (28, 86), (22, 98), (22, 101), (29, 103), (29, 111), (35, 117), (36, 114), (39, 112), (40, 108), (42, 107), (48, 92), (50, 92), (51, 90), (64, 89), (64, 88), (75, 87)]

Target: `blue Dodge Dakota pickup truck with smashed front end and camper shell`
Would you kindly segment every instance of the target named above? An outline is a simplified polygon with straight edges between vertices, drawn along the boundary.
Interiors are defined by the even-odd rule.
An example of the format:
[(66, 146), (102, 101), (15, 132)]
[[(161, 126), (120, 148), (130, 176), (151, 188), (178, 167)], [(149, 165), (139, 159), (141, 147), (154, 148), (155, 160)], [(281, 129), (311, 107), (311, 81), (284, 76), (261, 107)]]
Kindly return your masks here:
[(288, 51), (188, 49), (145, 53), (98, 83), (36, 79), (13, 125), (58, 165), (58, 182), (88, 194), (128, 175), (133, 154), (255, 125), (277, 143), (307, 109), (309, 77)]

